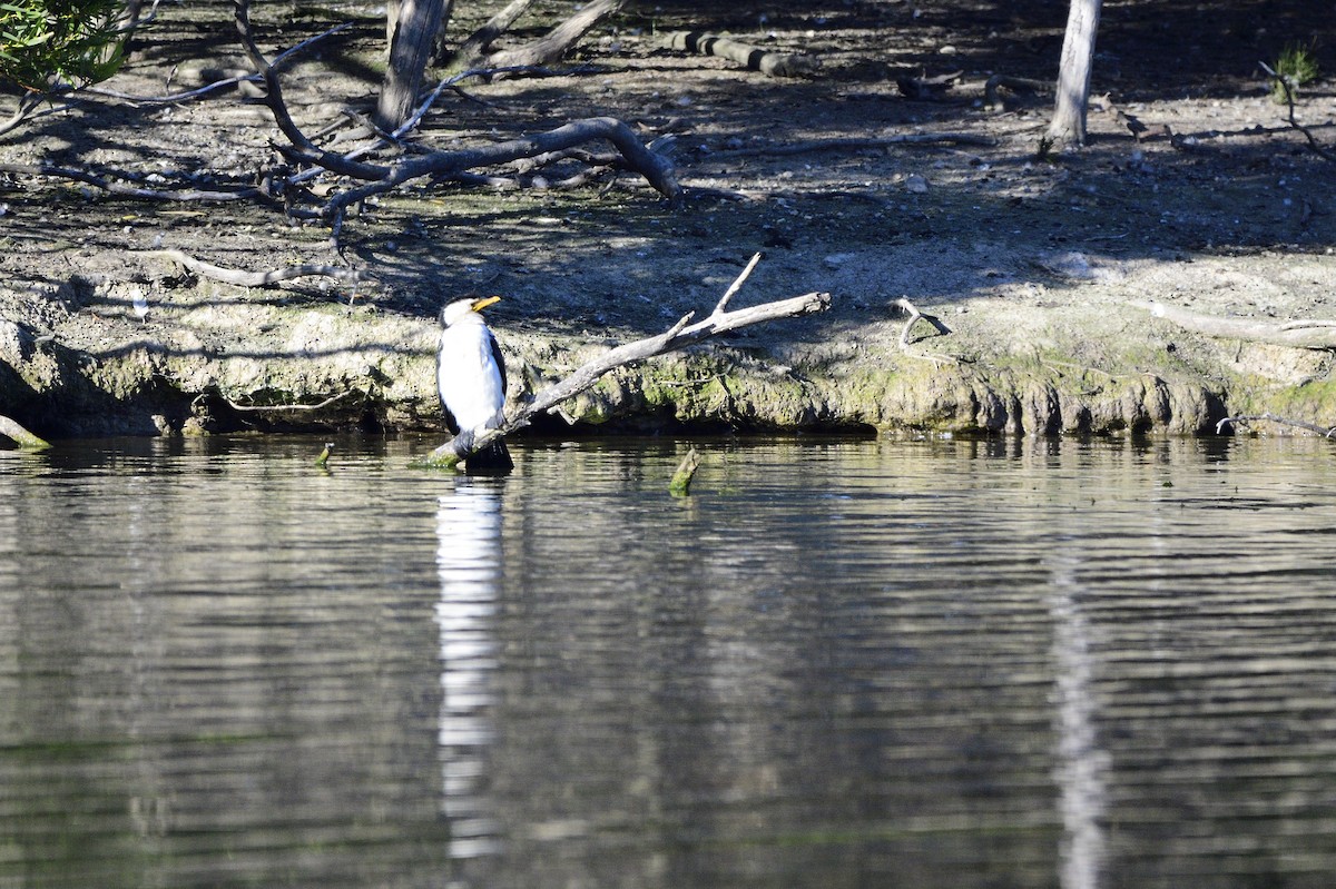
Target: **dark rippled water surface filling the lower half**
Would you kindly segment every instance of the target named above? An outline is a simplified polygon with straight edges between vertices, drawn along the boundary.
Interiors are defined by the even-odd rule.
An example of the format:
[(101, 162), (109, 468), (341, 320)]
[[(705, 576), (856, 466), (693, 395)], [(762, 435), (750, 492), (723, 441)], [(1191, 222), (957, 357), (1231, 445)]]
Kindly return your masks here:
[(0, 453), (0, 889), (1331, 886), (1320, 440)]

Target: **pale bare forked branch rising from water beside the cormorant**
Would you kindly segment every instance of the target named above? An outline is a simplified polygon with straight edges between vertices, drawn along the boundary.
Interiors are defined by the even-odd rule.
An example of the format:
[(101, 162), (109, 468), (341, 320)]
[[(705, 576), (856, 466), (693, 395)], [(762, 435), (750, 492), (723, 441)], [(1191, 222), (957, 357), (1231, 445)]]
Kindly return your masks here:
[[(744, 271), (744, 275), (747, 272), (749, 272), (749, 268)], [(720, 300), (720, 303), (723, 302)], [(830, 307), (830, 294), (803, 294), (802, 296), (763, 303), (751, 308), (739, 308), (731, 312), (716, 308), (708, 318), (695, 324), (691, 323), (695, 312), (688, 312), (676, 324), (657, 336), (625, 343), (587, 362), (561, 382), (548, 386), (529, 402), (508, 411), (505, 422), (500, 427), (477, 435), (470, 431), (462, 431), (418, 463), (428, 467), (454, 469), (458, 463), (468, 459), (469, 454), (477, 453), (496, 439), (528, 426), (529, 418), (534, 414), (550, 411), (561, 404), (561, 402), (574, 398), (592, 387), (611, 370), (643, 362), (655, 355), (685, 348), (693, 343), (740, 327), (822, 312)]]

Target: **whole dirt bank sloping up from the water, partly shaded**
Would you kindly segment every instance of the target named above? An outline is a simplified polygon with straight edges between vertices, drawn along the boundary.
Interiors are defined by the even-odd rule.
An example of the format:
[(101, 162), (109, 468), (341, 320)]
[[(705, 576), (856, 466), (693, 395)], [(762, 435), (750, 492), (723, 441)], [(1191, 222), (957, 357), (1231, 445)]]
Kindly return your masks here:
[[(1045, 4), (1013, 7), (887, 1), (815, 16), (739, 4), (700, 23), (667, 5), (595, 35), (574, 60), (592, 72), (474, 84), (425, 128), (466, 143), (616, 115), (647, 139), (676, 136), (679, 208), (629, 175), (573, 191), (529, 175), (510, 192), (421, 186), (349, 220), (335, 252), (326, 228), (250, 204), (152, 204), (13, 178), (0, 196), (0, 412), (48, 435), (432, 428), (433, 318), (452, 295), (505, 295), (490, 316), (513, 383), (532, 386), (708, 311), (763, 251), (736, 304), (822, 290), (831, 311), (624, 370), (570, 416), (1026, 434), (1200, 432), (1263, 410), (1336, 422), (1323, 328), (1296, 346), (1287, 326), (1336, 316), (1336, 178), (1268, 99), (1253, 57), (1316, 24), (1271, 9), (1272, 49), (1238, 36), (1256, 35), (1252, 4), (1161, 15), (1154, 27), (1137, 17), (1141, 4), (1110, 11), (1096, 75), (1110, 111), (1092, 115), (1092, 147), (1045, 162), (1046, 96), (983, 103), (991, 73), (1053, 73), (1062, 21), (1045, 21)], [(282, 32), (265, 24), (269, 45), (357, 21), (286, 75), (314, 129), (367, 103), (379, 23), (351, 4), (295, 9)], [(174, 68), (228, 67), (224, 13), (164, 9), (107, 85), (155, 95)], [(695, 25), (823, 65), (780, 80), (657, 47), (656, 32)], [(1197, 43), (1169, 52), (1184, 33)], [(947, 71), (963, 75), (941, 99), (906, 99), (896, 84)], [(1336, 141), (1331, 85), (1307, 89), (1299, 113)], [(1138, 141), (1126, 115), (1161, 135)], [(962, 137), (892, 141), (904, 133)], [(88, 101), (11, 136), (0, 160), (104, 164), (168, 186), (240, 182), (274, 162), (278, 137), (236, 91), (159, 107)], [(239, 288), (155, 248), (244, 270), (349, 266), (367, 282)], [(903, 344), (899, 298), (949, 332), (919, 322)]]

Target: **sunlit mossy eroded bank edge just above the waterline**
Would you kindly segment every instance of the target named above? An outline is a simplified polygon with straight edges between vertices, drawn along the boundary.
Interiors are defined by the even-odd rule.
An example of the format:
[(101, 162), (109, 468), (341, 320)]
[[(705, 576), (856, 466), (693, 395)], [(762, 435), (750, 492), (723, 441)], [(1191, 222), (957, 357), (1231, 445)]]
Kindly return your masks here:
[[(639, 431), (1053, 435), (1214, 432), (1222, 416), (1267, 410), (1324, 424), (1336, 415), (1328, 351), (1206, 336), (1144, 304), (1168, 280), (1201, 292), (1225, 282), (1250, 304), (1267, 288), (1301, 303), (1308, 288), (1321, 304), (1329, 259), (1062, 255), (991, 291), (921, 304), (950, 332), (921, 320), (906, 347), (902, 314), (848, 295), (911, 259), (896, 250), (827, 258), (812, 283), (832, 292), (828, 315), (621, 368), (568, 402), (568, 418)], [(735, 306), (796, 292), (744, 291)], [(512, 394), (657, 332), (494, 327)], [(434, 339), (428, 319), (311, 291), (75, 276), (0, 290), (0, 412), (48, 436), (434, 430)]]

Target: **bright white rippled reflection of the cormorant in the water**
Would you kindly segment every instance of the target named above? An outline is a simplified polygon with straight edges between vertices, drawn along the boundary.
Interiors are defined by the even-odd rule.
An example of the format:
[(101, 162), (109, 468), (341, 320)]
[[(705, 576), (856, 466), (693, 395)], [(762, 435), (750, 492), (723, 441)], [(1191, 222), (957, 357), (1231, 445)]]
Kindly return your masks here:
[(501, 571), (501, 497), (496, 482), (458, 479), (436, 514), (436, 563), (441, 598), (441, 781), (442, 813), (450, 821), (450, 854), (472, 858), (497, 852), (488, 802), (488, 749), (493, 727), (493, 619)]

